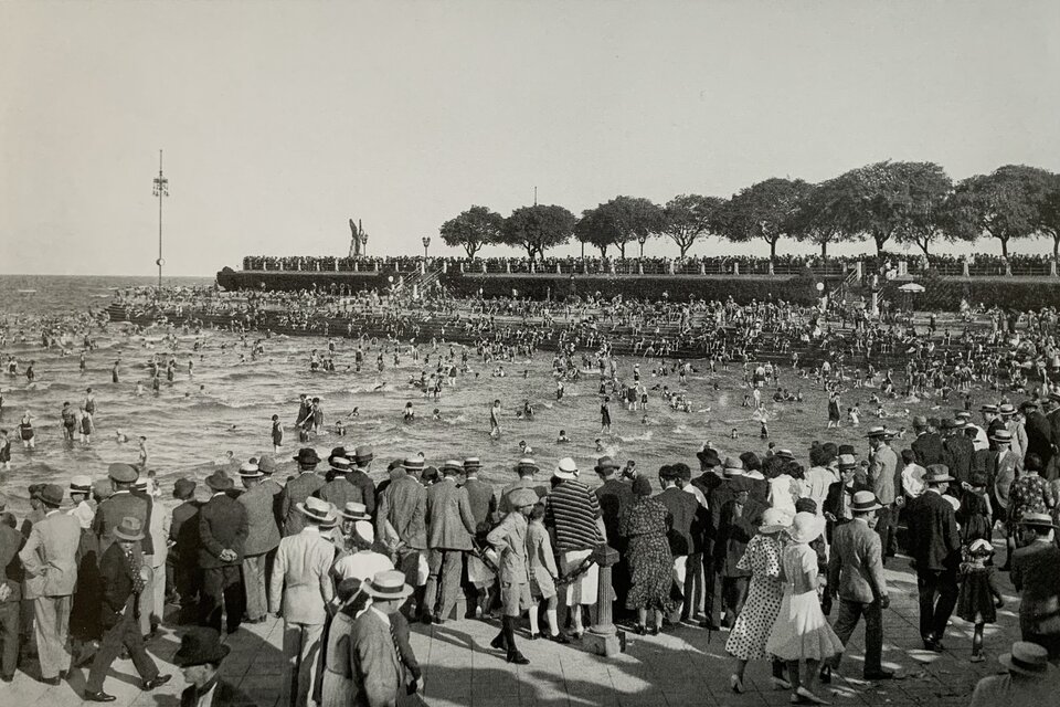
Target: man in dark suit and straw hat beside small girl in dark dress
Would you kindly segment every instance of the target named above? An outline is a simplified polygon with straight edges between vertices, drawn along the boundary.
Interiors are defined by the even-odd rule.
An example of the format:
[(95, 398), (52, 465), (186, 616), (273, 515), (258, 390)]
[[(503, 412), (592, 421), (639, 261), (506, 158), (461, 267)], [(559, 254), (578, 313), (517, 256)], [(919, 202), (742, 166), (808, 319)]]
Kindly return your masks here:
[(924, 647), (941, 653), (946, 622), (957, 601), (961, 537), (953, 506), (942, 495), (954, 481), (943, 464), (924, 474), (928, 488), (910, 504), (910, 555), (920, 592), (920, 635)]

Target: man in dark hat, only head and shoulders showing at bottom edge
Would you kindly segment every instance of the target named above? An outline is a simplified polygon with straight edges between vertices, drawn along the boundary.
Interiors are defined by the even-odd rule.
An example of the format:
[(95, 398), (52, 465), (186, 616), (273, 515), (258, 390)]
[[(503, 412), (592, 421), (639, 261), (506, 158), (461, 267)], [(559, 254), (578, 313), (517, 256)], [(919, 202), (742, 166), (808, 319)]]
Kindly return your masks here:
[(180, 707), (256, 707), (256, 701), (221, 678), (221, 663), (231, 648), (213, 629), (194, 626), (180, 637), (173, 662), (189, 685), (180, 694)]

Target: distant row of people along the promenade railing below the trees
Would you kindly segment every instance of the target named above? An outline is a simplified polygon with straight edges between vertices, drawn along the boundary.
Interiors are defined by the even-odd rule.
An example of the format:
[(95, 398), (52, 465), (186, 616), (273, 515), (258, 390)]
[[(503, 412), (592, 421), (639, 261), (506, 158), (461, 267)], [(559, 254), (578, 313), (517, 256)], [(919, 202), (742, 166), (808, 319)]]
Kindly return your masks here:
[(420, 271), (424, 264), (447, 272), (487, 274), (561, 274), (561, 275), (797, 275), (838, 276), (852, 271), (858, 263), (863, 273), (883, 274), (898, 271), (924, 275), (962, 275), (967, 267), (969, 276), (1049, 275), (1050, 254), (1011, 254), (1008, 257), (973, 253), (971, 255), (923, 255), (919, 253), (878, 253), (875, 255), (840, 255), (823, 258), (819, 255), (777, 255), (772, 258), (751, 255), (687, 257), (618, 256), (618, 257), (463, 257), (463, 256), (268, 256), (247, 255), (244, 271), (305, 271), (305, 272), (401, 272)]

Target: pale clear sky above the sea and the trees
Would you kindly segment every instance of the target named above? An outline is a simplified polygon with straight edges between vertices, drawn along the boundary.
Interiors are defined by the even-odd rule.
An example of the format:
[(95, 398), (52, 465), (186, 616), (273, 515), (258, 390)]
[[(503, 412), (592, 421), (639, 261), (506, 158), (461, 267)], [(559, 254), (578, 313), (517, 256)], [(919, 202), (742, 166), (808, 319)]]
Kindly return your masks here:
[[(344, 255), (350, 218), (369, 254), (455, 255), (443, 222), (534, 187), (580, 214), (884, 159), (1060, 171), (1058, 32), (1056, 0), (9, 0), (0, 273), (152, 274), (160, 149), (171, 275)], [(738, 250), (767, 253), (692, 254)]]

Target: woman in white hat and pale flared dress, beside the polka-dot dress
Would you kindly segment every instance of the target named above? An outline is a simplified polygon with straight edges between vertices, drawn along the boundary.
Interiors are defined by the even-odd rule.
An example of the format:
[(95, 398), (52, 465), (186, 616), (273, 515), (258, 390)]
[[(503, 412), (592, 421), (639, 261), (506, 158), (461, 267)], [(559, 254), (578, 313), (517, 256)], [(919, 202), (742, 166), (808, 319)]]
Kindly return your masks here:
[(842, 652), (817, 600), (817, 553), (809, 544), (824, 529), (823, 517), (798, 513), (786, 530), (789, 542), (781, 555), (784, 599), (765, 642), (766, 653), (787, 662), (792, 703), (797, 705), (829, 704), (815, 694), (818, 666)]

